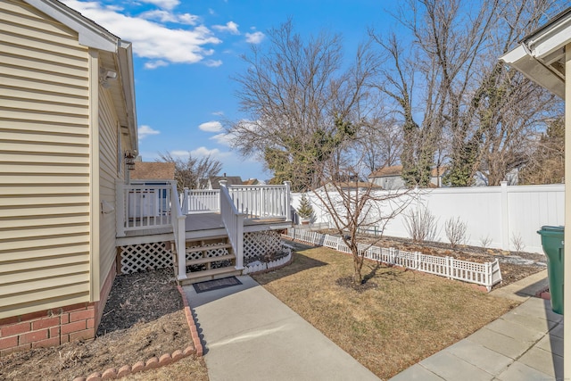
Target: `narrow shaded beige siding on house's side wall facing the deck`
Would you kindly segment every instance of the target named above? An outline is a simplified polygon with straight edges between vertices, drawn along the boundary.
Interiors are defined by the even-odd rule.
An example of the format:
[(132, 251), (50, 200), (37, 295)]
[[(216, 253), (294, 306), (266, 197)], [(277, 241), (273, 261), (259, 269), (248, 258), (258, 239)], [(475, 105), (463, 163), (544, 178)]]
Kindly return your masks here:
[[(99, 196), (115, 205), (118, 117), (109, 91), (99, 91)], [(103, 286), (116, 258), (115, 213), (101, 214), (99, 223), (99, 285)], [(101, 290), (100, 290), (101, 291)]]

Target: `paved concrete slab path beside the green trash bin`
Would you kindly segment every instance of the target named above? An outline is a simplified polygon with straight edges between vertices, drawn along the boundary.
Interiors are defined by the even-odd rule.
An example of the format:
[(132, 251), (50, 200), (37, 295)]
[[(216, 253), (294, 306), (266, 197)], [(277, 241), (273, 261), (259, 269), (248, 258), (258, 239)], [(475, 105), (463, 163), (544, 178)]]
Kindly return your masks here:
[(544, 270), (492, 291), (523, 303), (391, 380), (562, 380), (563, 316), (550, 301), (532, 297), (547, 286), (546, 277)]

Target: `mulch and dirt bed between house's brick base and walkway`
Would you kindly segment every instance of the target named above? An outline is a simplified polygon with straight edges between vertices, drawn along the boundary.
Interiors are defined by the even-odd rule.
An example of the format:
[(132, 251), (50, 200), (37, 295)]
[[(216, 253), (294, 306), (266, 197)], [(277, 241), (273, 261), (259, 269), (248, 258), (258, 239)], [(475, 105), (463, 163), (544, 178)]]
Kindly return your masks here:
[[(115, 278), (95, 340), (12, 353), (0, 358), (0, 379), (72, 380), (192, 345), (172, 269), (123, 275)], [(180, 362), (166, 368), (186, 367), (187, 372), (194, 374), (186, 373), (186, 379), (208, 379), (202, 359)], [(171, 379), (151, 376), (149, 372), (145, 375)]]

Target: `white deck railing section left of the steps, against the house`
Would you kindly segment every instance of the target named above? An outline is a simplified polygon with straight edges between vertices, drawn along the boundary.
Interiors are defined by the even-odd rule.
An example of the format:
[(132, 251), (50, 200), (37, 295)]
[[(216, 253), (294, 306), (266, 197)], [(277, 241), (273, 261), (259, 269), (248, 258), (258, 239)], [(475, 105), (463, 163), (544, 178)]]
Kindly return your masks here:
[[(117, 236), (148, 228), (171, 225), (171, 184), (117, 183)], [(175, 197), (175, 204), (178, 198)], [(104, 211), (103, 211), (104, 212)]]

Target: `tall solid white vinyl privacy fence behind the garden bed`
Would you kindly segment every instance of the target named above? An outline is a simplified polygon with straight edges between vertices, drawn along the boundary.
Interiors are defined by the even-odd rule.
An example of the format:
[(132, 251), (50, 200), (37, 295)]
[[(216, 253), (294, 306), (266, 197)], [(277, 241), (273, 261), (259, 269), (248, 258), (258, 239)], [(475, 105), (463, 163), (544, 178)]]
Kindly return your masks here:
[[(319, 199), (311, 193), (307, 195), (315, 211), (313, 222), (333, 228), (332, 219)], [(406, 215), (426, 208), (436, 219), (435, 241), (448, 243), (444, 225), (448, 219), (459, 218), (468, 227), (466, 244), (543, 253), (537, 230), (544, 225), (565, 224), (565, 186), (562, 184), (418, 189), (403, 197), (412, 197), (410, 204), (385, 227), (373, 225), (364, 228), (372, 234), (410, 238), (405, 227)], [(294, 209), (299, 206), (300, 198), (301, 194), (292, 194)], [(341, 211), (340, 214), (346, 212)]]

